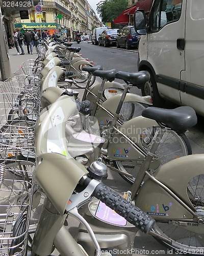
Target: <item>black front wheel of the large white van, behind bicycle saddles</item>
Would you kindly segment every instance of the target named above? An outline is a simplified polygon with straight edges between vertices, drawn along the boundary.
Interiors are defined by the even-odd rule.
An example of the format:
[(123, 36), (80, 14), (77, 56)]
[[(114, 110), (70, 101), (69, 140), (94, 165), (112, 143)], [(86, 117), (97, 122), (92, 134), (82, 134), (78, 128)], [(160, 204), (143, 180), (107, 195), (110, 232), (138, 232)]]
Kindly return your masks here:
[(157, 88), (157, 82), (155, 81), (154, 76), (152, 73), (148, 70), (150, 74), (150, 80), (147, 81), (144, 86), (142, 86), (142, 96), (150, 95), (152, 97), (152, 102), (154, 106), (161, 107), (164, 105), (165, 100), (162, 99), (159, 95), (158, 88)]

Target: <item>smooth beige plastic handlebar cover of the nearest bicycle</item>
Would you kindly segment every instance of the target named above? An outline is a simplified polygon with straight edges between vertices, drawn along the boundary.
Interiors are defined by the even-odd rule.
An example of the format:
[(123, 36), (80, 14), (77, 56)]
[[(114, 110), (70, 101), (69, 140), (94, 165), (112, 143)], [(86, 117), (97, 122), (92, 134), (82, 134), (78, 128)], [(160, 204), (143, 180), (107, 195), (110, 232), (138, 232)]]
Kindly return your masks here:
[(39, 156), (40, 163), (35, 170), (35, 179), (58, 210), (63, 215), (67, 202), (87, 169), (71, 157), (57, 153)]

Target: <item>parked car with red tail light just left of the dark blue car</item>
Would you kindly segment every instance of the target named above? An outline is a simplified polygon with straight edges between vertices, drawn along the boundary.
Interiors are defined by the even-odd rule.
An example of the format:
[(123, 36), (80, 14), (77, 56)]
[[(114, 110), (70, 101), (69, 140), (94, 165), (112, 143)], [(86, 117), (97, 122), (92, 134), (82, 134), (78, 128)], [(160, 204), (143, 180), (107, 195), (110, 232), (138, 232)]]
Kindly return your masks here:
[(99, 46), (110, 46), (115, 45), (116, 36), (118, 35), (119, 29), (108, 29), (104, 30), (98, 37)]

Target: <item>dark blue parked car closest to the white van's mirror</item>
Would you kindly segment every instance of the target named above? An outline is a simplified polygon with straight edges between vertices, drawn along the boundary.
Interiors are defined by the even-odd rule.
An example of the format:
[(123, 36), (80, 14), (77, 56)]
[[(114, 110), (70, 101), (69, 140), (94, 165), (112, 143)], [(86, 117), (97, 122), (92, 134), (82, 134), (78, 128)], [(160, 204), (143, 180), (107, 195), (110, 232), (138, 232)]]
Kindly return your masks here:
[(130, 50), (132, 46), (138, 48), (139, 38), (140, 35), (136, 33), (134, 26), (125, 26), (116, 37), (116, 47), (125, 47), (127, 50)]

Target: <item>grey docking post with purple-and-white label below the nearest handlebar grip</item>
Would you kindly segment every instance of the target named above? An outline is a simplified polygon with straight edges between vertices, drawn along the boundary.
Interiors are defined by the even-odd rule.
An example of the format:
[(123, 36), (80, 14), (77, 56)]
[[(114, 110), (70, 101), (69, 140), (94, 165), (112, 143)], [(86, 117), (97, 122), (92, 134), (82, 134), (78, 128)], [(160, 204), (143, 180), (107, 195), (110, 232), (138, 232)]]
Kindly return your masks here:
[[(95, 233), (101, 252), (109, 252), (110, 255), (117, 253), (121, 256), (132, 255), (135, 234), (138, 228), (97, 199), (93, 199), (88, 204), (88, 209), (83, 218)], [(91, 254), (91, 252), (94, 252), (94, 244), (83, 224), (79, 225), (77, 242), (83, 246), (89, 256), (94, 256), (94, 254)]]

